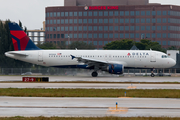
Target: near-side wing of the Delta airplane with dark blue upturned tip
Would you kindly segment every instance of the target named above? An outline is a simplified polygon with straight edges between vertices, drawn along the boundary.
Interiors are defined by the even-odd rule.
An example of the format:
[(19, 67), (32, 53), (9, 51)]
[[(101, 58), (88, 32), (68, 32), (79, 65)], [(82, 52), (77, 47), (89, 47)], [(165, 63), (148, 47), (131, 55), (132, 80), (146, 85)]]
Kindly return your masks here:
[(104, 60), (97, 60), (97, 59), (91, 59), (91, 58), (85, 58), (85, 57), (75, 57), (71, 55), (72, 59), (77, 59), (78, 62), (85, 63), (88, 65), (88, 67), (92, 67), (95, 65), (103, 66), (107, 64), (123, 64), (124, 66), (127, 65), (125, 62), (121, 61), (104, 61)]

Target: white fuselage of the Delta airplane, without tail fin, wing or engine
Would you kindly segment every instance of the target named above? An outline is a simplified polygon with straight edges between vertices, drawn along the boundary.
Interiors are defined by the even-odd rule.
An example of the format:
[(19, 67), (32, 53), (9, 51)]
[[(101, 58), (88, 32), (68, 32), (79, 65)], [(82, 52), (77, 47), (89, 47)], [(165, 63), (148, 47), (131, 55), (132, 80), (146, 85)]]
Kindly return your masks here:
[(125, 68), (169, 68), (176, 64), (176, 61), (167, 57), (165, 53), (152, 50), (32, 50), (10, 51), (5, 55), (17, 60), (53, 67), (85, 65), (72, 59), (71, 55), (106, 61), (109, 64), (123, 64)]

